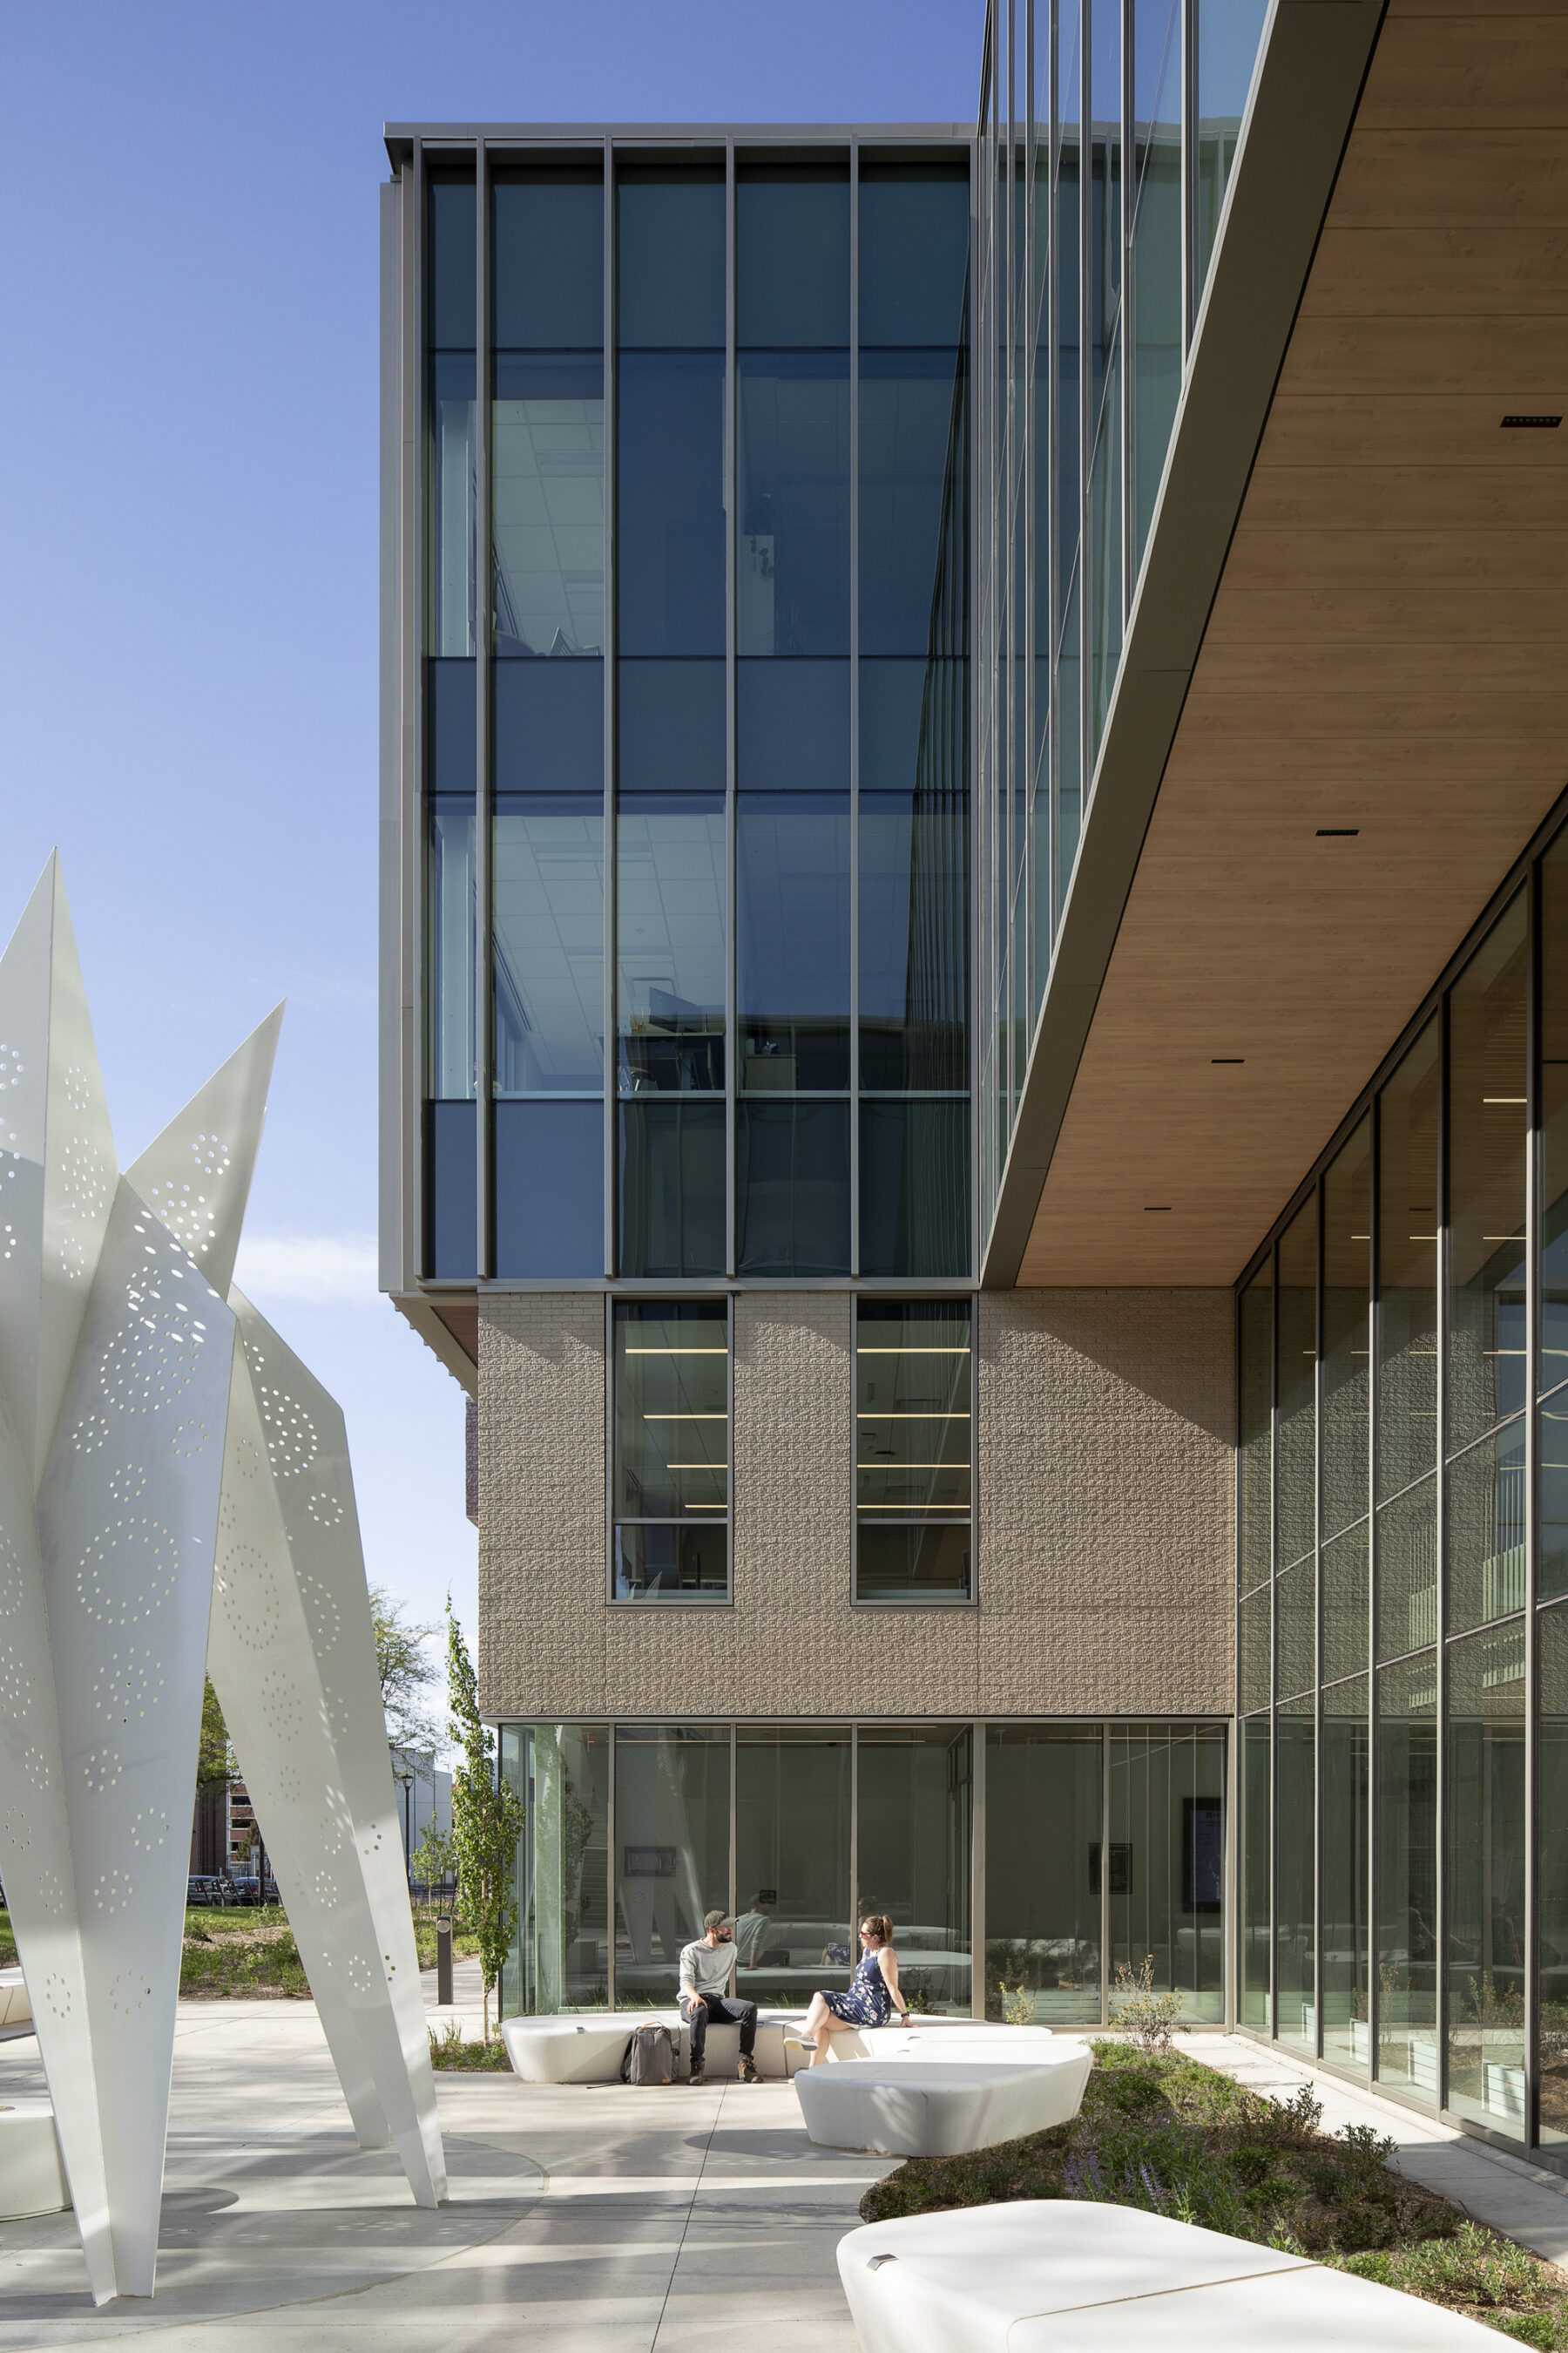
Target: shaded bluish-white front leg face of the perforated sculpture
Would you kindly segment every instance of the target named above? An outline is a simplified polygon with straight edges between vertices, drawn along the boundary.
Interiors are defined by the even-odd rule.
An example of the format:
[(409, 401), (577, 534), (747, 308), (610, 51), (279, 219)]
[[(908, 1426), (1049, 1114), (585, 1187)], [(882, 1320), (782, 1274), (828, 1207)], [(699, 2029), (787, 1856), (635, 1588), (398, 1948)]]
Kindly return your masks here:
[(115, 1186), (38, 1489), (120, 2294), (150, 2297), (233, 1315)]

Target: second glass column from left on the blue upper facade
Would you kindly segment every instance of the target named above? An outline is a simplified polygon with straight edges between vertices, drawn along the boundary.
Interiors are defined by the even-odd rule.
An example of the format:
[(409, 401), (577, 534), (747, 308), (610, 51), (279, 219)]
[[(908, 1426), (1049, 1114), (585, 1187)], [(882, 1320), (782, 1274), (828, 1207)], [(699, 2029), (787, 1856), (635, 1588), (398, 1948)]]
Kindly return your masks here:
[(494, 1271), (604, 1266), (604, 169), (489, 188)]

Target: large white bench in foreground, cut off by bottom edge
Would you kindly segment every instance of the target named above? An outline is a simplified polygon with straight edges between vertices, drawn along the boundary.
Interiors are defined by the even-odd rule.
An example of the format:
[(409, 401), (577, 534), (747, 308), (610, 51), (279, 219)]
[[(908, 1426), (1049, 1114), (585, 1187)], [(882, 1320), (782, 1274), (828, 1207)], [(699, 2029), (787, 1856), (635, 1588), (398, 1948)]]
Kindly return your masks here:
[(867, 2224), (839, 2240), (839, 2278), (863, 2353), (1497, 2344), (1476, 2320), (1373, 2280), (1138, 2207), (1067, 2198)]

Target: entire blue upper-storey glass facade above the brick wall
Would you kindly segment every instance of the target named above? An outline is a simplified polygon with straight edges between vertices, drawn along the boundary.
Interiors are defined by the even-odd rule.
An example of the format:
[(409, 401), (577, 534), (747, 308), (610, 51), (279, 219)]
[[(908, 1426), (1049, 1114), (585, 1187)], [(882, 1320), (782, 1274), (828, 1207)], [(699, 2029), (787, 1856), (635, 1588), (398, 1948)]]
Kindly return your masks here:
[(969, 1278), (969, 179), (425, 172), (425, 1278)]

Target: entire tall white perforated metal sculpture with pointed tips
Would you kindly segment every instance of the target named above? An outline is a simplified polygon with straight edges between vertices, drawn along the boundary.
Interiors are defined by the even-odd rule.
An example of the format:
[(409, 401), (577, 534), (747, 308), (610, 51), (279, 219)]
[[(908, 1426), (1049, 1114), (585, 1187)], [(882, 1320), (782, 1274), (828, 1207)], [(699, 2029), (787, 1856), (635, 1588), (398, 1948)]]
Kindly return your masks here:
[(447, 2193), (343, 1417), (230, 1280), (277, 1021), (120, 1176), (54, 859), (0, 958), (0, 1878), (96, 2301), (153, 2292), (205, 1671), (355, 2132)]

